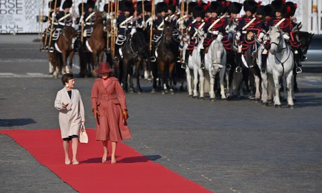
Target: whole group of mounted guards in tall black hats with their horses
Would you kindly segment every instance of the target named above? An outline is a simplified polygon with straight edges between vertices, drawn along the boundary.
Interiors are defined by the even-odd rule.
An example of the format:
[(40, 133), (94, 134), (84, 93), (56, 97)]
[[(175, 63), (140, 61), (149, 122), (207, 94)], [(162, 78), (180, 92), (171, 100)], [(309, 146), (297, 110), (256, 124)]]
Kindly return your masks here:
[(204, 99), (204, 92), (211, 100), (248, 94), (265, 106), (274, 101), (281, 107), (282, 84), (288, 107), (294, 107), (296, 74), (302, 72), (312, 34), (300, 31), (293, 2), (104, 3), (103, 12), (99, 1), (81, 3), (76, 16), (71, 0), (63, 2), (63, 11), (60, 0), (49, 2), (42, 51), (49, 53), (50, 73), (71, 72), (78, 52), (80, 75), (97, 76), (106, 55), (126, 91), (134, 90), (133, 76), (138, 92), (140, 76), (153, 80), (152, 92), (163, 93), (173, 93), (178, 82), (183, 90), (187, 80), (193, 98)]

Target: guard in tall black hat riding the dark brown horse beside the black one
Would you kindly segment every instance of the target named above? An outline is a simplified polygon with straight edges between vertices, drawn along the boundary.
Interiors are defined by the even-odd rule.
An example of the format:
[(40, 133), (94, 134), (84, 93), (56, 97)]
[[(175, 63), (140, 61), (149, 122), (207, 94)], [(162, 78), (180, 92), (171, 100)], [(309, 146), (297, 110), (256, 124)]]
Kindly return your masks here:
[(152, 49), (151, 49), (151, 62), (155, 62), (155, 48), (163, 35), (163, 27), (165, 21), (168, 21), (168, 5), (165, 2), (159, 2), (156, 4), (156, 13), (159, 14), (157, 19), (153, 23), (153, 28), (156, 29), (156, 34), (153, 35)]

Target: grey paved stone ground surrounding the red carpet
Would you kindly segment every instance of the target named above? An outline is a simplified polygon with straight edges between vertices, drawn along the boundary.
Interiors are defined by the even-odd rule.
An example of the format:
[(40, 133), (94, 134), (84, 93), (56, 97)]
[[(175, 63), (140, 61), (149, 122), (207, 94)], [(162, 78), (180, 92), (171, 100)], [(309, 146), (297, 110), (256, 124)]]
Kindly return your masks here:
[[(48, 72), (47, 55), (31, 42), (36, 36), (17, 36), (22, 45), (7, 44), (10, 36), (1, 42), (3, 37), (0, 129), (59, 128), (53, 103), (62, 87), (60, 79), (26, 75)], [(248, 100), (200, 101), (179, 92), (152, 94), (150, 83), (142, 81), (146, 92), (127, 94), (133, 139), (124, 142), (212, 191), (322, 192), (322, 78), (320, 73), (303, 73), (298, 79), (301, 92), (293, 110), (265, 108)], [(76, 77), (75, 83), (88, 128), (95, 127), (93, 81)], [(1, 192), (72, 191), (8, 136), (0, 135), (0, 142)], [(28, 177), (20, 176), (26, 173)]]

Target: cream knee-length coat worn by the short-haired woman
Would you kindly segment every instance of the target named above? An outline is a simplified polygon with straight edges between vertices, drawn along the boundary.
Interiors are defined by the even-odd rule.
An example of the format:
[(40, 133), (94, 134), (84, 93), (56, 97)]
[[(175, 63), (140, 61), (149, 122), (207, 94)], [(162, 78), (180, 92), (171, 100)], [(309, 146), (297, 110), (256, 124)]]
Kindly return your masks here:
[[(62, 109), (62, 103), (69, 104)], [(61, 138), (79, 135), (82, 121), (85, 121), (85, 112), (81, 94), (77, 89), (72, 89), (71, 99), (65, 87), (57, 92), (55, 108), (59, 110), (59, 127)]]

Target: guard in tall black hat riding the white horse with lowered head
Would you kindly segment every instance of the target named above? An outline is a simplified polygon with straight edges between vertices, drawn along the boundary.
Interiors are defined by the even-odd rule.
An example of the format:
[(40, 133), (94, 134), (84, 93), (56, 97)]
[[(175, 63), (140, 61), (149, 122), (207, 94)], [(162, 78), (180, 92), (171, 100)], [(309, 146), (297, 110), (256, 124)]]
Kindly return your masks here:
[(222, 3), (221, 1), (211, 2), (209, 11), (211, 13), (211, 18), (206, 22), (203, 27), (203, 31), (206, 32), (206, 38), (203, 42), (203, 47), (200, 49), (201, 64), (200, 68), (205, 68), (205, 50), (212, 41), (218, 38), (219, 41), (222, 40), (224, 34), (224, 17), (219, 17), (222, 12)]

